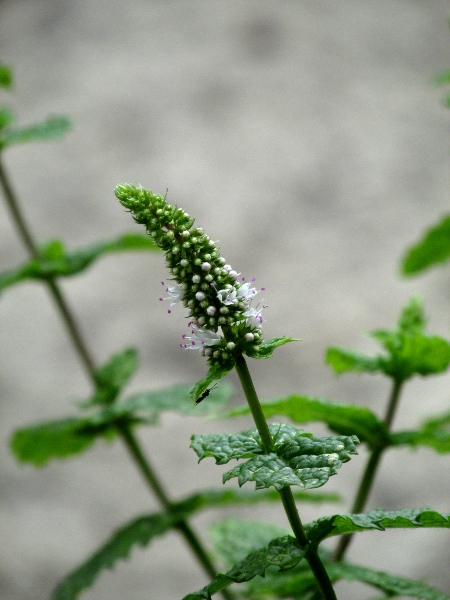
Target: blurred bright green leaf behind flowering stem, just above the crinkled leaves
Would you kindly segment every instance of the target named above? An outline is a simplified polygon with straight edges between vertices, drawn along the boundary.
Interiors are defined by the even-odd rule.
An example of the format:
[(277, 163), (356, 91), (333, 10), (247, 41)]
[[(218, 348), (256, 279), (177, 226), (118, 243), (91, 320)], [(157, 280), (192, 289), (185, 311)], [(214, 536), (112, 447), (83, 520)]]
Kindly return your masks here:
[[(284, 398), (275, 398), (261, 402), (261, 408), (267, 419), (275, 415), (288, 417), (295, 423), (320, 421), (342, 435), (355, 434), (371, 447), (386, 446), (390, 443), (385, 424), (368, 408), (292, 394)], [(225, 417), (249, 414), (248, 406), (235, 408)]]

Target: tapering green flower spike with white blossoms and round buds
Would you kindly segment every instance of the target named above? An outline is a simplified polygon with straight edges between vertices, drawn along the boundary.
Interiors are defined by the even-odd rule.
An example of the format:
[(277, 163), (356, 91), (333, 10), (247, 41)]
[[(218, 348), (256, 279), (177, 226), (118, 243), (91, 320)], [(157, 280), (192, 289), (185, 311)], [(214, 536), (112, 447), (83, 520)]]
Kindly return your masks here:
[(182, 302), (189, 310), (190, 335), (183, 336), (181, 346), (201, 349), (212, 365), (237, 353), (257, 352), (265, 307), (252, 307), (258, 293), (254, 279), (247, 282), (226, 264), (214, 241), (165, 196), (127, 184), (118, 185), (115, 193), (165, 252), (176, 284), (163, 283), (168, 296), (160, 300), (171, 300), (171, 307)]

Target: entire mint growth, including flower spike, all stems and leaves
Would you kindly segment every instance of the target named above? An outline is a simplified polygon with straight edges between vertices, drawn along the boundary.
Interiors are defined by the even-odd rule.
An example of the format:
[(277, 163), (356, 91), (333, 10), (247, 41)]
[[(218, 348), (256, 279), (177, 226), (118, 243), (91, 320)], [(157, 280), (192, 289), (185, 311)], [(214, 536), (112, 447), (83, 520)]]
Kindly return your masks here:
[[(0, 67), (0, 85), (8, 88), (11, 83), (11, 69)], [(60, 139), (70, 123), (64, 117), (52, 117), (25, 128), (17, 128), (14, 123), (12, 111), (1, 109), (0, 186), (30, 259), (0, 275), (0, 290), (12, 290), (27, 280), (46, 286), (91, 380), (92, 393), (78, 402), (77, 410), (66, 418), (17, 429), (11, 436), (11, 450), (19, 461), (41, 467), (51, 460), (79, 456), (97, 440), (120, 440), (161, 507), (157, 512), (137, 515), (116, 529), (56, 585), (52, 600), (79, 598), (105, 569), (127, 559), (133, 548), (148, 546), (172, 530), (183, 537), (209, 581), (198, 591), (187, 593), (184, 600), (209, 599), (216, 593), (230, 600), (332, 600), (338, 597), (334, 584), (339, 580), (365, 583), (382, 598), (449, 600), (447, 593), (428, 583), (354, 564), (345, 558), (357, 533), (450, 527), (450, 513), (441, 514), (432, 508), (364, 512), (385, 452), (402, 446), (425, 446), (441, 454), (450, 452), (448, 413), (430, 416), (411, 431), (393, 429), (406, 383), (416, 376), (443, 373), (450, 364), (450, 342), (427, 331), (422, 301), (412, 298), (393, 329), (370, 334), (380, 344), (380, 352), (375, 356), (336, 347), (327, 350), (326, 362), (338, 375), (370, 373), (390, 380), (391, 392), (382, 418), (368, 408), (300, 393), (260, 401), (247, 359), (269, 359), (276, 349), (296, 341), (287, 336), (264, 339), (263, 315), (267, 307), (265, 299), (258, 301), (257, 297), (266, 290), (257, 289), (254, 278), (248, 279), (228, 265), (216, 243), (195, 226), (184, 209), (169, 204), (166, 196), (138, 185), (118, 185), (115, 194), (148, 235), (127, 233), (74, 251), (67, 250), (61, 240), (38, 243), (3, 165), (3, 152), (13, 144)], [(403, 263), (406, 274), (450, 258), (447, 220), (408, 252)], [(103, 365), (94, 360), (59, 279), (78, 276), (104, 254), (122, 251), (164, 253), (168, 279), (163, 282), (160, 300), (169, 303), (168, 312), (173, 310), (173, 316), (181, 306), (188, 311), (187, 330), (180, 334), (181, 349), (177, 351), (198, 350), (206, 361), (207, 372), (198, 382), (128, 395), (126, 386), (138, 368), (137, 351), (114, 351)], [(156, 285), (155, 282), (155, 289)], [(270, 296), (269, 290), (267, 295)], [(232, 370), (238, 374), (247, 404), (230, 410), (225, 403), (233, 392), (223, 378)], [(205, 458), (213, 458), (218, 465), (237, 461), (223, 474), (222, 483), (237, 479), (240, 487), (250, 484), (249, 489), (224, 487), (199, 490), (185, 498), (172, 497), (136, 435), (137, 428), (157, 425), (160, 415), (168, 410), (230, 419), (251, 415), (254, 426), (239, 433), (194, 434), (191, 438), (191, 448), (199, 462)], [(282, 420), (268, 421), (275, 416)], [(319, 437), (299, 427), (313, 422), (325, 424), (331, 435)], [(332, 494), (310, 490), (327, 484), (357, 454), (359, 443), (366, 444), (369, 457), (361, 481), (355, 483), (350, 512), (303, 523), (299, 503), (336, 499)], [(258, 502), (278, 502), (285, 513), (286, 527), (227, 518), (211, 528), (211, 552), (211, 546), (205, 544), (190, 522), (194, 514), (209, 508)], [(334, 552), (322, 546), (331, 537), (337, 538)], [(232, 584), (238, 585), (230, 589)], [(152, 597), (151, 590), (148, 595)]]

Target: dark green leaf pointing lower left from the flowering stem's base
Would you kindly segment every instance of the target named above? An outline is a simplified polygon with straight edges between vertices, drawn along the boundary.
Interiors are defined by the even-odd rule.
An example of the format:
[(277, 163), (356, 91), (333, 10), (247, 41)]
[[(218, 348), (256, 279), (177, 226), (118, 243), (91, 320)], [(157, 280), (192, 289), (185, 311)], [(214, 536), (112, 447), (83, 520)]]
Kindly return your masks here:
[(231, 583), (250, 581), (257, 575), (264, 577), (270, 567), (280, 571), (292, 569), (305, 556), (297, 541), (286, 535), (272, 540), (267, 546), (251, 552), (242, 561), (234, 565), (229, 571), (219, 573), (214, 580), (203, 589), (193, 594), (188, 594), (183, 600), (209, 599), (213, 594), (228, 587)]

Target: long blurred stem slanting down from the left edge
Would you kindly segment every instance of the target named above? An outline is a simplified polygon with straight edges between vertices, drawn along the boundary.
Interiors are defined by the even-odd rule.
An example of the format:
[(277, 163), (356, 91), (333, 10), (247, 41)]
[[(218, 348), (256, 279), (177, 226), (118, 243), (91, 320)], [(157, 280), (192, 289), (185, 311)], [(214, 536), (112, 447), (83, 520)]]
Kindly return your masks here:
[[(0, 153), (0, 185), (3, 189), (6, 204), (11, 212), (12, 220), (17, 228), (18, 235), (22, 240), (23, 244), (25, 245), (26, 249), (28, 250), (30, 256), (32, 258), (40, 258), (39, 248), (33, 238), (31, 229), (28, 227), (26, 220), (23, 216), (19, 201), (17, 199), (16, 194), (13, 191), (12, 185), (3, 167), (1, 159), (2, 156)], [(78, 356), (81, 362), (83, 363), (83, 366), (85, 367), (85, 370), (90, 380), (95, 385), (96, 380), (94, 360), (90, 352), (88, 351), (86, 343), (84, 342), (84, 339), (81, 335), (81, 331), (78, 327), (77, 321), (69, 308), (69, 305), (62, 293), (62, 290), (54, 277), (48, 277), (45, 280), (45, 283), (47, 284), (50, 294), (53, 300), (55, 301), (56, 307), (63, 319), (67, 331), (69, 332), (71, 341), (78, 353)], [(130, 455), (132, 456), (134, 463), (139, 468), (148, 486), (158, 498), (161, 505), (166, 510), (171, 510), (172, 505), (164, 490), (164, 487), (159, 481), (158, 477), (156, 476), (155, 470), (150, 465), (149, 461), (145, 458), (142, 449), (140, 448), (131, 430), (131, 427), (129, 427), (128, 425), (120, 425), (118, 426), (118, 430), (125, 446), (127, 447)], [(197, 557), (199, 563), (203, 567), (204, 571), (207, 573), (208, 577), (214, 578), (216, 576), (216, 570), (213, 564), (211, 563), (206, 550), (203, 548), (200, 539), (192, 530), (191, 526), (185, 519), (180, 519), (176, 527), (188, 543), (194, 555)], [(222, 595), (227, 600), (232, 599), (232, 595), (227, 590), (223, 590)]]

